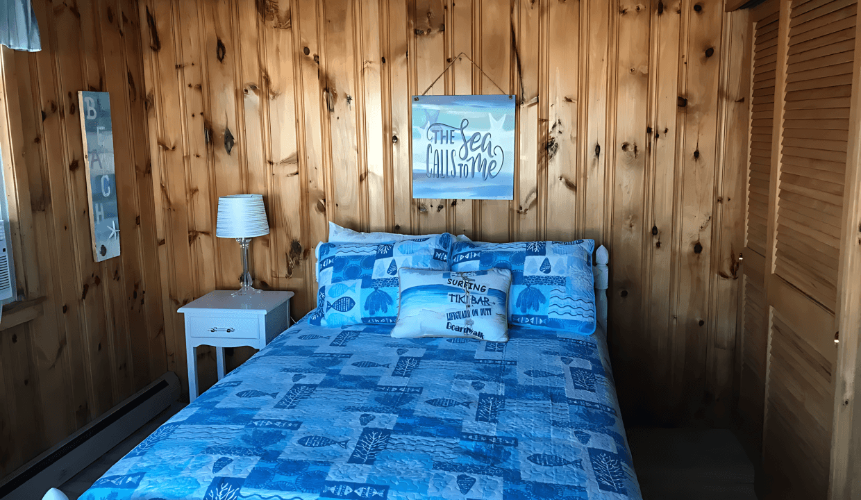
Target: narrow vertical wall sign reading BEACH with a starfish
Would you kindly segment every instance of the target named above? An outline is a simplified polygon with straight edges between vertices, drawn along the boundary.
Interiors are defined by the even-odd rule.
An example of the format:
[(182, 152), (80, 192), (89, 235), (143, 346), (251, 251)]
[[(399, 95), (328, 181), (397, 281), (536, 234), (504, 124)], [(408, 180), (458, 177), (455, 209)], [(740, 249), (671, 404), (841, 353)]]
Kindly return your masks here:
[(102, 262), (120, 255), (120, 219), (117, 217), (114, 176), (114, 133), (108, 92), (77, 93), (84, 136), (87, 197), (90, 200), (90, 235), (93, 258)]

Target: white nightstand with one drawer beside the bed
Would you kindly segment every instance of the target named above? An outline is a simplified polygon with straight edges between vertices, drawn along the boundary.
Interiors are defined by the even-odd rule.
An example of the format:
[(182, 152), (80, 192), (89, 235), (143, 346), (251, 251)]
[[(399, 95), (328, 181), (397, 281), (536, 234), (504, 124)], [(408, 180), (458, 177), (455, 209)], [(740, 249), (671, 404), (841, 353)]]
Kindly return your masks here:
[(224, 348), (263, 349), (290, 325), (293, 292), (261, 292), (232, 297), (233, 290), (216, 290), (179, 308), (185, 315), (185, 350), (189, 361), (189, 400), (197, 398), (199, 345), (215, 347), (218, 379), (224, 377)]

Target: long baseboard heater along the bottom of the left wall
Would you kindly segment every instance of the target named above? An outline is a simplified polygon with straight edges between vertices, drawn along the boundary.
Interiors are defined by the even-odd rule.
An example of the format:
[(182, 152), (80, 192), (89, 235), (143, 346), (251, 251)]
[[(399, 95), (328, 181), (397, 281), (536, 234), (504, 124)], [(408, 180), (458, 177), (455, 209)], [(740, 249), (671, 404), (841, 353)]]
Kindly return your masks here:
[(179, 399), (177, 374), (164, 373), (0, 482), (0, 498), (33, 500), (59, 487)]

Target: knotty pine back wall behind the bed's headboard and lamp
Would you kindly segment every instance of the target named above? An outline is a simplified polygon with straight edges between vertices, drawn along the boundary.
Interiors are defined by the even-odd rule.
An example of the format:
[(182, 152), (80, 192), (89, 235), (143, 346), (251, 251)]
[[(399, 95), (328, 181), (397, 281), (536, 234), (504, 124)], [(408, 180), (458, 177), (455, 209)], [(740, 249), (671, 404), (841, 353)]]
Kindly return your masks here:
[[(314, 306), (313, 248), (356, 230), (610, 248), (631, 419), (726, 422), (734, 379), (750, 22), (715, 0), (141, 0), (171, 370), (177, 307), (237, 286), (217, 198), (264, 195), (257, 286)], [(514, 201), (413, 200), (410, 96), (517, 96)], [(240, 359), (242, 356), (237, 355)], [(203, 386), (212, 354), (198, 353)], [(235, 362), (235, 360), (234, 360)], [(206, 364), (204, 364), (206, 363)]]

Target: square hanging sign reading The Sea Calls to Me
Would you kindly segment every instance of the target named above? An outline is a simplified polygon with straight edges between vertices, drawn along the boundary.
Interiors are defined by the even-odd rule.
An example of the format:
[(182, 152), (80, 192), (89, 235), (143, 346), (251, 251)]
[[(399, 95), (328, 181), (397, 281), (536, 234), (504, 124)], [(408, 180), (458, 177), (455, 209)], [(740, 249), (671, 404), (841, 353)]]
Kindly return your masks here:
[(412, 197), (511, 200), (514, 96), (413, 96)]

